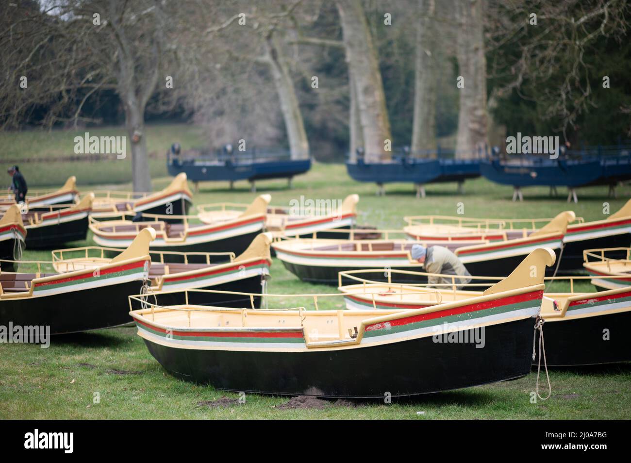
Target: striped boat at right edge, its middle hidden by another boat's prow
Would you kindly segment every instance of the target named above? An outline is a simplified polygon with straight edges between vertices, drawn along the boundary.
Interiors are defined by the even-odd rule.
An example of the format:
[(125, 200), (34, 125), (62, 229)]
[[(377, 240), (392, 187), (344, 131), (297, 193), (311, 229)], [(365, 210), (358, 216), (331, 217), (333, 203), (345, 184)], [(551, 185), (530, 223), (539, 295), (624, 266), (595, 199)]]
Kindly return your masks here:
[[(416, 240), (511, 239), (538, 230), (550, 219), (476, 219), (451, 216), (410, 216), (404, 230)], [(525, 226), (524, 226), (525, 225)], [(585, 222), (579, 218), (567, 226), (563, 237), (560, 271), (582, 268), (583, 251), (627, 247), (631, 244), (631, 199), (604, 220)], [(619, 257), (623, 257), (624, 253)], [(615, 255), (610, 255), (615, 257)]]

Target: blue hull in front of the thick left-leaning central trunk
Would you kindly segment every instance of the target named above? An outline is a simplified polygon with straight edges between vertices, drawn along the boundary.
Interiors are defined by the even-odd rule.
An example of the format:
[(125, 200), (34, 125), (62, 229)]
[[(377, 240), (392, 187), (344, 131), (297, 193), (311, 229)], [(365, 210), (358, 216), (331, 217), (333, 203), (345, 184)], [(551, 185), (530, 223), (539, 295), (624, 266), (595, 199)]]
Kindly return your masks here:
[(413, 160), (405, 163), (374, 163), (363, 161), (346, 163), (348, 175), (358, 182), (386, 184), (394, 182), (411, 182), (427, 184), (440, 177), (440, 163), (437, 160)]

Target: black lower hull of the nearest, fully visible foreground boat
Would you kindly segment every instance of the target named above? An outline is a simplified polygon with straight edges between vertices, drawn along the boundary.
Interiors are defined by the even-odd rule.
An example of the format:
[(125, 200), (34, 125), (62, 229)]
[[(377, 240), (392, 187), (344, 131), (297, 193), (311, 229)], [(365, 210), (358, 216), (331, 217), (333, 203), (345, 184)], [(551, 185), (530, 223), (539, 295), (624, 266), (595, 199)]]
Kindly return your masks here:
[(365, 348), (307, 352), (163, 346), (144, 339), (172, 375), (224, 390), (285, 396), (415, 396), (510, 380), (531, 368), (534, 319), (485, 329), (485, 346), (432, 336)]

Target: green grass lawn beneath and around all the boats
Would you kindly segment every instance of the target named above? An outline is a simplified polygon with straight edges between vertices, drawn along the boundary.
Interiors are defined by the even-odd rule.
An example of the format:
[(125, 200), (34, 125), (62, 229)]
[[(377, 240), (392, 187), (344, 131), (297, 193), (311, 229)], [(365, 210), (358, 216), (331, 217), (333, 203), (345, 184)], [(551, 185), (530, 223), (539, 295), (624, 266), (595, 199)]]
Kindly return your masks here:
[[(7, 137), (11, 140), (9, 145)], [(3, 146), (10, 146), (9, 151), (0, 154), (0, 166), (4, 168), (4, 160), (19, 157), (21, 149), (40, 156), (64, 155), (67, 150), (71, 153), (73, 137), (74, 132), (56, 131), (0, 134)], [(148, 129), (150, 151), (165, 151), (175, 139), (185, 148), (199, 145), (203, 143), (203, 131), (192, 126)], [(129, 179), (129, 165), (122, 161), (57, 166), (24, 163), (20, 168), (30, 187), (58, 185), (67, 175), (76, 175), (81, 191), (87, 192), (95, 184)], [(152, 173), (161, 176), (155, 177), (155, 189), (168, 183), (163, 160), (153, 161)], [(235, 190), (228, 189), (227, 182), (200, 187), (195, 197), (198, 204), (249, 202), (254, 197), (247, 182), (237, 183)], [(260, 182), (257, 187), (259, 192), (271, 193), (273, 204), (279, 206), (288, 206), (291, 199), (299, 199), (300, 195), (306, 199), (343, 199), (347, 194), (358, 193), (359, 223), (390, 229), (401, 228), (404, 215), (456, 215), (459, 203), (464, 206), (464, 216), (469, 217), (549, 217), (573, 209), (585, 220), (599, 220), (604, 218), (603, 203), (609, 203), (613, 213), (631, 193), (628, 186), (621, 187), (619, 199), (608, 199), (606, 187), (591, 187), (579, 190), (579, 203), (570, 205), (564, 195), (550, 198), (547, 189), (533, 188), (524, 190), (524, 202), (514, 203), (510, 201), (510, 187), (479, 179), (467, 182), (463, 195), (456, 194), (455, 184), (429, 185), (428, 196), (416, 199), (411, 185), (396, 184), (387, 185), (385, 197), (377, 197), (375, 185), (353, 182), (343, 165), (322, 164), (315, 164), (307, 175), (297, 177), (292, 190), (286, 189), (284, 180)], [(88, 239), (87, 243), (74, 244), (91, 243)], [(24, 258), (50, 259), (50, 252), (27, 250)], [(334, 289), (298, 281), (276, 259), (271, 274), (270, 293), (322, 293)], [(553, 289), (563, 290), (564, 286), (555, 284)], [(589, 283), (577, 289), (593, 290)], [(307, 302), (290, 297), (283, 303)], [(333, 298), (321, 307), (339, 308), (341, 299)], [(357, 402), (357, 406), (329, 404), (321, 410), (281, 410), (278, 406), (288, 399), (251, 395), (245, 404), (208, 407), (198, 402), (238, 396), (171, 377), (151, 357), (135, 331), (129, 327), (59, 337), (48, 349), (29, 344), (0, 344), (0, 418), (631, 418), (630, 363), (555, 370), (550, 375), (553, 396), (536, 404), (530, 401), (536, 383), (536, 373), (531, 373), (516, 381), (393, 400), (392, 404), (372, 401)], [(349, 372), (352, 374), (352, 365)], [(93, 403), (95, 392), (100, 396), (98, 404)]]

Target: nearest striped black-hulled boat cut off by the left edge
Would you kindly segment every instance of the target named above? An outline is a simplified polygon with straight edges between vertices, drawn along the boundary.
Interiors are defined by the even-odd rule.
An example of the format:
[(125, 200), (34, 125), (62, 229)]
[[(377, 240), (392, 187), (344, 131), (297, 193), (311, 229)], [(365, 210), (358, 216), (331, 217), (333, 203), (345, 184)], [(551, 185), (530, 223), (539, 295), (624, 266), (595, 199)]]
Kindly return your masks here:
[[(98, 269), (59, 274), (3, 269), (0, 325), (49, 325), (50, 334), (65, 334), (129, 323), (127, 296), (139, 293), (148, 279), (154, 237), (155, 231), (143, 230), (124, 252)], [(39, 267), (42, 263), (37, 262)]]

